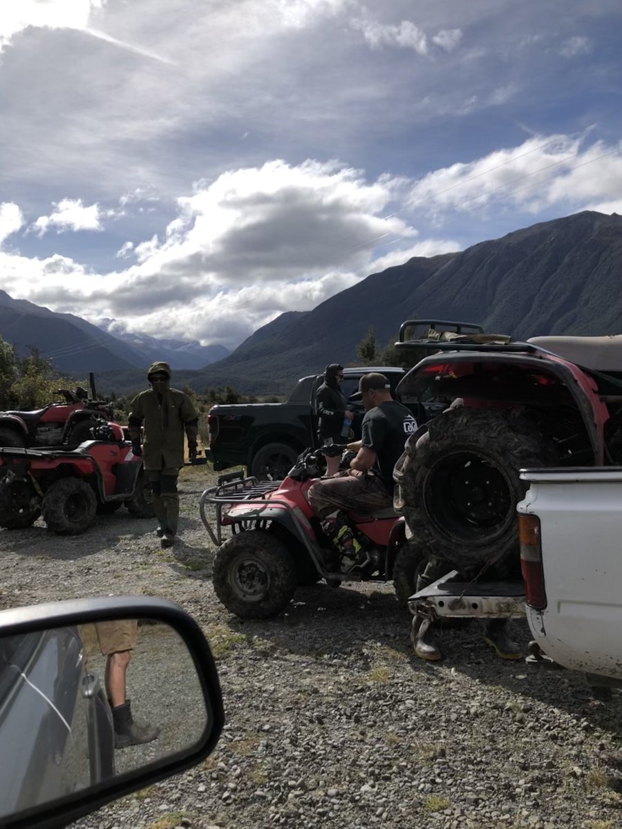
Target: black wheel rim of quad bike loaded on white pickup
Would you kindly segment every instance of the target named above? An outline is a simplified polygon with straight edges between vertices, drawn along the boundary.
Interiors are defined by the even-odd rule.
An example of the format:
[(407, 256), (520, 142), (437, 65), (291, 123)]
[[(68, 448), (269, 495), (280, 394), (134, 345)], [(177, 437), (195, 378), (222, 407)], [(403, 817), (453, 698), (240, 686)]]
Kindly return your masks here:
[(425, 487), (429, 516), (450, 535), (477, 537), (502, 532), (513, 516), (506, 475), (483, 455), (445, 455), (430, 470)]

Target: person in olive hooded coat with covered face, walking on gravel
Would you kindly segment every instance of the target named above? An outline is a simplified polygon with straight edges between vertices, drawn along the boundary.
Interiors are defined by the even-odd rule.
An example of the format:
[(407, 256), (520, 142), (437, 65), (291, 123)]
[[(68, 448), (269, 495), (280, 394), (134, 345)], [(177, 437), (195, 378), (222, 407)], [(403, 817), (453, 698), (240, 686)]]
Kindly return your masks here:
[[(197, 454), (198, 414), (192, 400), (171, 389), (171, 367), (166, 362), (149, 366), (151, 388), (134, 397), (129, 413), (129, 437), (134, 454), (143, 455), (147, 480), (153, 488), (153, 508), (159, 521), (157, 535), (163, 547), (173, 545), (179, 522), (177, 476), (183, 466), (183, 434), (188, 453)], [(140, 427), (143, 425), (143, 445)]]

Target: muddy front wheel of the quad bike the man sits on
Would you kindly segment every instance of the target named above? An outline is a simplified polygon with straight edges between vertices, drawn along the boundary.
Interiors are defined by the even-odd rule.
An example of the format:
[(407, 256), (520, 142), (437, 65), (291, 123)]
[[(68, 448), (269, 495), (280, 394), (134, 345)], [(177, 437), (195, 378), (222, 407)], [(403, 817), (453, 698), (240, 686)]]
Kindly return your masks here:
[(298, 583), (289, 550), (265, 530), (240, 532), (225, 541), (214, 557), (212, 580), (227, 610), (255, 619), (276, 616)]

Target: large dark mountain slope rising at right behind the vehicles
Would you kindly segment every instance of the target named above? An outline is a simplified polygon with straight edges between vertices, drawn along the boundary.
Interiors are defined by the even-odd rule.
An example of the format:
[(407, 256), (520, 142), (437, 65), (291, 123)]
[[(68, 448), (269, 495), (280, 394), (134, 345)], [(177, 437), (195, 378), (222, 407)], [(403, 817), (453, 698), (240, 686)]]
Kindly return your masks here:
[(328, 362), (356, 361), (369, 326), (382, 347), (413, 316), (516, 338), (622, 333), (620, 273), (622, 217), (584, 211), (372, 274), (313, 311), (281, 314), (188, 383), (283, 393)]

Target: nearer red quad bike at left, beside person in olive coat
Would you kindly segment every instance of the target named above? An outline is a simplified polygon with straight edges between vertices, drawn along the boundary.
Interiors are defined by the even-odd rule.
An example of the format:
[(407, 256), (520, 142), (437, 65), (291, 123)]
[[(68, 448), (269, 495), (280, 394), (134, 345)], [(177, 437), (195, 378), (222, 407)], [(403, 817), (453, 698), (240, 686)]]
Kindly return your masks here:
[(77, 448), (0, 448), (0, 526), (31, 526), (41, 515), (59, 535), (84, 532), (95, 515), (125, 505), (138, 518), (154, 516), (142, 458), (118, 424), (93, 429)]

